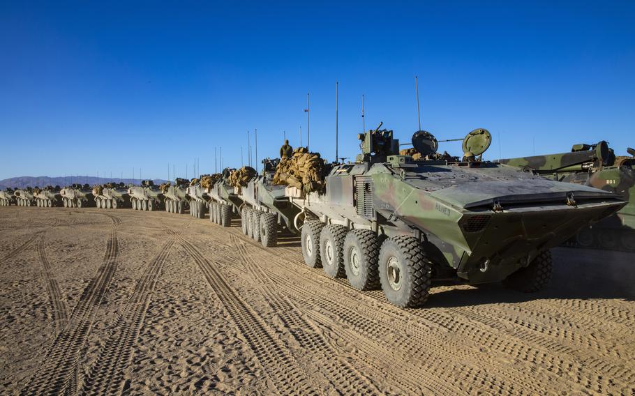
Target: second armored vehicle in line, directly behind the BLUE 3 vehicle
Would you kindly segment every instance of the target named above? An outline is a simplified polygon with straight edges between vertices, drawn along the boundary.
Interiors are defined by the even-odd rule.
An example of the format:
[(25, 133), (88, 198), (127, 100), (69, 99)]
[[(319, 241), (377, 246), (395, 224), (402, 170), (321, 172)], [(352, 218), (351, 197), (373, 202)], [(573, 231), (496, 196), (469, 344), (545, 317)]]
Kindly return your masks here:
[(285, 186), (274, 184), (279, 162), (279, 159), (262, 160), (262, 174), (252, 178), (239, 194), (244, 201), (241, 210), (243, 234), (266, 247), (276, 245), (278, 231), (297, 232), (292, 222), (300, 210), (285, 196)]

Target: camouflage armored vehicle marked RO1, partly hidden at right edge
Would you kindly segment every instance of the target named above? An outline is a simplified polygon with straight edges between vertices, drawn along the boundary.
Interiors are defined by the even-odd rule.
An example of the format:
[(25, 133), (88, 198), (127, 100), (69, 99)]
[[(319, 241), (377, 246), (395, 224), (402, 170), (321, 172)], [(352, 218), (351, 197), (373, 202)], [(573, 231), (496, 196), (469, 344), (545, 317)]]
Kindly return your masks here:
[(635, 150), (615, 157), (604, 141), (574, 144), (570, 153), (509, 158), (499, 162), (552, 180), (589, 185), (613, 192), (628, 201), (601, 222), (582, 229), (567, 243), (583, 248), (635, 251)]

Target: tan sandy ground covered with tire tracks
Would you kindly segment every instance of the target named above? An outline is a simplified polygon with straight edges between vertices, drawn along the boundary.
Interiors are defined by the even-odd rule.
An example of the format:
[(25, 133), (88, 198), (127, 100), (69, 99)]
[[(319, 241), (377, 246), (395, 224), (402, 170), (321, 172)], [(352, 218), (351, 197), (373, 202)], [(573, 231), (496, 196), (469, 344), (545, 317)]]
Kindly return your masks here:
[(635, 395), (634, 254), (401, 310), (239, 220), (0, 208), (0, 393)]

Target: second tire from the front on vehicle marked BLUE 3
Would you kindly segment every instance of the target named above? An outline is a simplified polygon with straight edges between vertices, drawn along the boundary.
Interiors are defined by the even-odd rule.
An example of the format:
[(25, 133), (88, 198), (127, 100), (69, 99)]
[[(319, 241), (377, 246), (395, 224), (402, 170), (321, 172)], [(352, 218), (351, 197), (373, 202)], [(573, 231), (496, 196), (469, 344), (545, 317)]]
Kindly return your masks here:
[(346, 278), (357, 290), (379, 289), (380, 243), (370, 229), (352, 229), (344, 239)]

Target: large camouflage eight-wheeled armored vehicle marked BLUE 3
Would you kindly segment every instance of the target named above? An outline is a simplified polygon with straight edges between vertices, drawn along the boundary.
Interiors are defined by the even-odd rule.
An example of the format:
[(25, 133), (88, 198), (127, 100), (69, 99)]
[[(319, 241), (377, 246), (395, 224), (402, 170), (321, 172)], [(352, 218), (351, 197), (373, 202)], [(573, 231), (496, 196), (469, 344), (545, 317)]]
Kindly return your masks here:
[(391, 130), (358, 137), (362, 153), (332, 167), (323, 191), (287, 188), (287, 196), (306, 216), (306, 264), (360, 290), (381, 285), (399, 307), (423, 304), (431, 282), (537, 291), (551, 277), (551, 248), (625, 205), (609, 192), (481, 160), (487, 130), (465, 137), (463, 159), (436, 159), (438, 140), (426, 131), (412, 136), (421, 160), (399, 155)]

